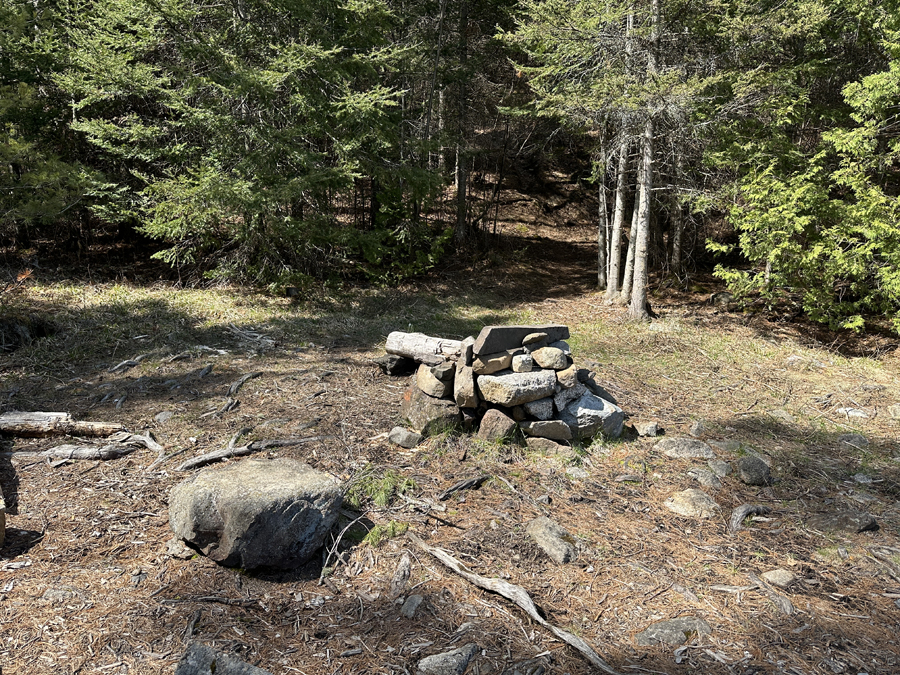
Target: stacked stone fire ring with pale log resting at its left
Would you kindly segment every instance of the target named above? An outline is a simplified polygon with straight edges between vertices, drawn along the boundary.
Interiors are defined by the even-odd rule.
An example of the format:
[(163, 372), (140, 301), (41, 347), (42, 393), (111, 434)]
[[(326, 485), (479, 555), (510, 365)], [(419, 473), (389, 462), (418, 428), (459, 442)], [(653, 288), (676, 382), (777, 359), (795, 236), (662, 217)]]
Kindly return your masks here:
[(393, 361), (394, 372), (417, 364), (402, 414), (425, 435), (460, 423), (471, 428), (493, 410), (491, 426), (499, 413), (526, 436), (618, 438), (625, 414), (593, 372), (575, 365), (568, 338), (568, 327), (558, 324), (487, 326), (462, 341), (395, 332), (385, 348), (411, 359)]

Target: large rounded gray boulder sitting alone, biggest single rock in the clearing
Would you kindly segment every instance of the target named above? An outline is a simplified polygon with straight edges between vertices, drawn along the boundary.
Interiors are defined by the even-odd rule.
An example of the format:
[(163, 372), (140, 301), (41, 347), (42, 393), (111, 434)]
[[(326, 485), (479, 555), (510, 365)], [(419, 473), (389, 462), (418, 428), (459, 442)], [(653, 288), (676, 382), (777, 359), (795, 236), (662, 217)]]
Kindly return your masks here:
[(169, 524), (228, 567), (290, 569), (322, 546), (343, 501), (328, 474), (294, 459), (202, 469), (169, 493)]

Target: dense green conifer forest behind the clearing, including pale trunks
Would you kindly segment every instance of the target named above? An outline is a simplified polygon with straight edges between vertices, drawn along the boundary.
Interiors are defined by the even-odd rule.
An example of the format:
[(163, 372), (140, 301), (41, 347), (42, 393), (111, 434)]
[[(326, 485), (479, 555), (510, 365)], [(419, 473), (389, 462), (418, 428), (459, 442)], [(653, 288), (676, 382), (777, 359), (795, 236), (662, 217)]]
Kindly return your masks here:
[(634, 317), (650, 274), (713, 261), (739, 298), (900, 330), (898, 10), (0, 0), (0, 245), (389, 283), (496, 245), (501, 187), (554, 166), (596, 190)]

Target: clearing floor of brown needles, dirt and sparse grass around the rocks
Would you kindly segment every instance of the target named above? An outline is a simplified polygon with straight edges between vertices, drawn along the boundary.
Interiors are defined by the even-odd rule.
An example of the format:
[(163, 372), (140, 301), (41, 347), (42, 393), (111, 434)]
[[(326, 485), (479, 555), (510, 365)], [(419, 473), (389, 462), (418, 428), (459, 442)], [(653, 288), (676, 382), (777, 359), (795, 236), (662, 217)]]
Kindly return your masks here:
[[(590, 210), (564, 204), (548, 215), (536, 201), (509, 197), (500, 253), (400, 289), (290, 303), (167, 284), (37, 280), (26, 288), (21, 305), (53, 315), (61, 330), (0, 357), (0, 409), (120, 422), (152, 432), (167, 454), (155, 465), (148, 450), (55, 463), (21, 453), (59, 439), (4, 441), (15, 452), (0, 457), (9, 510), (0, 550), (3, 673), (169, 674), (191, 640), (277, 674), (413, 673), (424, 656), (469, 642), (480, 647), (469, 673), (594, 672), (512, 603), (403, 535), (377, 544), (346, 537), (322, 582), (321, 558), (290, 573), (248, 573), (173, 557), (167, 495), (187, 475), (175, 467), (246, 427), (252, 438), (326, 436), (269, 454), (301, 459), (358, 491), (384, 486), (386, 472), (413, 481), (406, 499), (380, 507), (363, 497), (348, 514), (365, 512), (367, 528), (408, 524), (470, 570), (521, 585), (549, 621), (620, 672), (900, 672), (900, 446), (888, 412), (900, 402), (895, 345), (719, 312), (705, 303), (715, 288), (702, 280), (691, 292), (654, 296), (660, 318), (652, 324), (626, 323), (593, 288), (593, 230), (573, 224), (590, 222)], [(664, 457), (658, 439), (549, 456), (464, 434), (405, 451), (380, 436), (400, 422), (406, 386), (370, 362), (387, 332), (462, 337), (514, 321), (568, 324), (576, 361), (597, 370), (631, 421), (657, 420), (667, 436), (700, 421), (721, 459), (757, 453), (775, 482), (751, 487), (728, 476), (708, 490), (721, 516), (692, 520), (664, 502), (700, 487), (688, 470), (704, 463)], [(238, 407), (212, 414), (233, 382), (257, 371), (234, 395)], [(158, 422), (165, 411), (173, 416)], [(851, 431), (868, 444), (843, 442)], [(437, 501), (482, 474), (494, 478)], [(622, 474), (639, 480), (617, 481)], [(771, 511), (729, 534), (731, 510), (745, 503)], [(814, 513), (845, 507), (871, 513), (880, 528), (807, 525)], [(538, 515), (573, 535), (574, 564), (554, 563), (525, 534)], [(411, 577), (392, 598), (404, 553)], [(753, 586), (751, 575), (775, 568), (797, 582), (777, 596)], [(411, 593), (424, 602), (408, 619), (400, 603)], [(682, 616), (704, 619), (712, 632), (682, 647), (636, 644), (649, 625)]]

